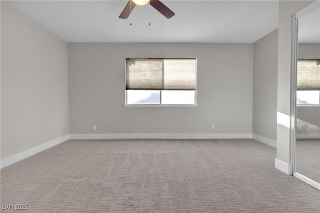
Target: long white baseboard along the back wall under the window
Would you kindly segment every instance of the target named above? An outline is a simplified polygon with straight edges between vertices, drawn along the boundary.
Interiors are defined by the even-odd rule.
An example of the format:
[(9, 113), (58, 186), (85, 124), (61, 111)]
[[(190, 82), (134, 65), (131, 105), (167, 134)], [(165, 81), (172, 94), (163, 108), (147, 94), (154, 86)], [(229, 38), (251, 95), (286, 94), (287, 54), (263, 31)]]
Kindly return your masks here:
[(71, 134), (69, 139), (251, 139), (252, 134)]

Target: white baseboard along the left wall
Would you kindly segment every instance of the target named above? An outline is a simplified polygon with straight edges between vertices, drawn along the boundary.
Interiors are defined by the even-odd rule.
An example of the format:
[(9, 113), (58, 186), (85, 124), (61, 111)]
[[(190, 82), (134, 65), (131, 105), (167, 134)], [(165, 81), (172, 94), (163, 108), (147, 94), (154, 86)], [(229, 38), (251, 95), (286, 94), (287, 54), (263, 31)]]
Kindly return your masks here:
[(34, 148), (31, 148), (31, 149), (28, 149), (24, 152), (21, 152), (21, 153), (18, 153), (16, 155), (12, 155), (8, 158), (5, 158), (3, 160), (0, 161), (0, 169), (4, 168), (4, 167), (7, 167), (11, 164), (14, 164), (18, 161), (21, 161), (27, 157), (30, 157), (32, 155), (35, 155), (39, 152), (42, 152), (43, 150), (46, 150), (48, 148), (51, 148), (55, 145), (58, 145), (64, 141), (67, 141), (69, 140), (69, 135), (66, 135), (66, 136), (63, 136), (61, 138), (58, 138), (58, 139), (55, 139), (53, 141), (49, 141), (45, 144), (41, 144), (40, 146), (37, 146), (37, 147), (34, 147)]

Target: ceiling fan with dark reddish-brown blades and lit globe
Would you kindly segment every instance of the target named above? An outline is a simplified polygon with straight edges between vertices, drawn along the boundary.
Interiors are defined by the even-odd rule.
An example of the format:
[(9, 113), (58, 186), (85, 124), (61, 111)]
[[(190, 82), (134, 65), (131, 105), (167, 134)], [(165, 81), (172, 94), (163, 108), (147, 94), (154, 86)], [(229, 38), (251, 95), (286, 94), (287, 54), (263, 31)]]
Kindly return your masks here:
[(124, 9), (122, 10), (121, 14), (119, 15), (119, 18), (127, 18), (135, 5), (144, 5), (149, 3), (151, 6), (153, 6), (156, 10), (158, 10), (162, 15), (164, 15), (166, 18), (170, 18), (174, 15), (174, 12), (172, 12), (167, 6), (165, 6), (161, 1), (159, 0), (129, 0), (127, 4), (125, 5)]

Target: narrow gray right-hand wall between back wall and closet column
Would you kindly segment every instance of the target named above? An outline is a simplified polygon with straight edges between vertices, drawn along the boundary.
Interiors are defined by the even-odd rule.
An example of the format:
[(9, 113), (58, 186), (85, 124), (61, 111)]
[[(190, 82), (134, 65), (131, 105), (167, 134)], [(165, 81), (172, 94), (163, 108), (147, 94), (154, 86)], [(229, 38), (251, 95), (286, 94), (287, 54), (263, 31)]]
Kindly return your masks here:
[(278, 30), (253, 43), (252, 133), (276, 141)]

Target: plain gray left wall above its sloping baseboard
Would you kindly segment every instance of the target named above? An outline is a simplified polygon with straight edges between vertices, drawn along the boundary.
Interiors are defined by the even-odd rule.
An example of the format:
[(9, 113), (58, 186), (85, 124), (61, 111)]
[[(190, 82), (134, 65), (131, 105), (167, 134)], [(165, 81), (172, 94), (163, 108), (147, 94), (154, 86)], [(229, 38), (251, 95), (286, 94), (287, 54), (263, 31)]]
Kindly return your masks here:
[(1, 159), (68, 135), (67, 43), (1, 1)]

